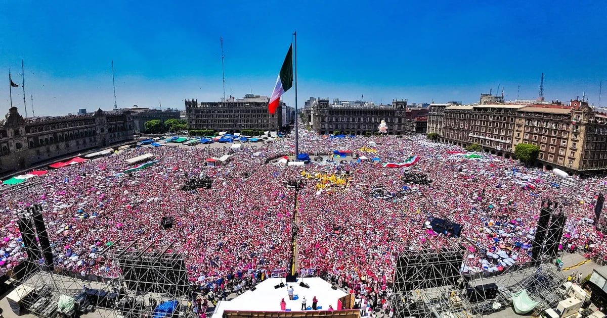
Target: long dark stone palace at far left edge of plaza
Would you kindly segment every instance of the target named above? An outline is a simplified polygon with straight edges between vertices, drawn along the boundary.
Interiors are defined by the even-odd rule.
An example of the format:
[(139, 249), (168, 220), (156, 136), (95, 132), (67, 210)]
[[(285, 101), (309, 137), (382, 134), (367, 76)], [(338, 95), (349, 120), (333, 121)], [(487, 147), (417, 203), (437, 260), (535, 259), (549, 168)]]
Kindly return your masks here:
[(129, 111), (23, 118), (17, 107), (0, 122), (0, 174), (23, 170), (54, 158), (132, 141)]

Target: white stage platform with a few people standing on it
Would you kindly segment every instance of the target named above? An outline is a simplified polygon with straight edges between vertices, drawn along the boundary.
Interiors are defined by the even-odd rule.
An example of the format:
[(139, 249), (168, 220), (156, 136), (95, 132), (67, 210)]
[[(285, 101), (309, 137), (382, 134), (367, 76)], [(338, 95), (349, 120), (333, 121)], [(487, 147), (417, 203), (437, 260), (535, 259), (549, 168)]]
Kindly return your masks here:
[[(299, 299), (289, 300), (287, 294), (287, 287), (274, 288), (275, 285), (279, 285), (280, 282), (285, 282), (283, 278), (270, 278), (266, 279), (261, 283), (257, 284), (257, 288), (254, 291), (245, 291), (242, 295), (226, 301), (220, 301), (215, 306), (213, 312), (213, 318), (221, 318), (223, 311), (226, 310), (240, 310), (240, 311), (281, 311), (280, 300), (283, 298), (287, 302), (287, 310), (291, 311), (302, 311), (302, 298), (306, 298), (308, 307), (312, 306), (312, 299), (316, 296), (318, 299), (317, 306), (322, 306), (320, 310), (327, 310), (329, 305), (333, 306), (334, 310), (337, 310), (337, 299), (347, 295), (341, 290), (333, 290), (331, 284), (319, 277), (304, 277), (303, 281), (307, 283), (310, 288), (304, 288), (299, 286), (299, 282), (302, 279), (297, 279), (296, 283), (288, 283), (293, 285), (294, 295), (297, 295)], [(287, 283), (285, 282), (285, 285)]]

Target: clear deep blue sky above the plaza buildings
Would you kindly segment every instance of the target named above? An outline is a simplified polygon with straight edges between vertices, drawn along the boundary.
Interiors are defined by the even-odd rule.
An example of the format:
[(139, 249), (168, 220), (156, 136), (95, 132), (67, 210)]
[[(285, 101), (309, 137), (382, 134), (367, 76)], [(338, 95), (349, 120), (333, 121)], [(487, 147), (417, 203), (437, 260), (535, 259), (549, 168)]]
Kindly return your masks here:
[[(601, 1), (421, 2), (0, 0), (0, 69), (20, 83), (25, 59), (30, 116), (30, 94), (36, 115), (112, 108), (112, 60), (120, 107), (183, 109), (222, 97), (220, 36), (226, 95), (270, 95), (297, 30), (300, 106), (362, 94), (476, 102), (498, 84), (534, 99), (542, 72), (549, 100), (586, 91), (598, 105), (601, 80), (607, 91)], [(5, 110), (8, 97), (0, 85)], [(294, 90), (283, 99), (293, 105)], [(21, 88), (13, 105), (24, 113)]]

